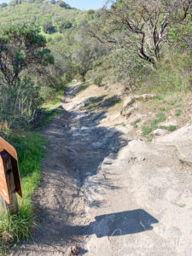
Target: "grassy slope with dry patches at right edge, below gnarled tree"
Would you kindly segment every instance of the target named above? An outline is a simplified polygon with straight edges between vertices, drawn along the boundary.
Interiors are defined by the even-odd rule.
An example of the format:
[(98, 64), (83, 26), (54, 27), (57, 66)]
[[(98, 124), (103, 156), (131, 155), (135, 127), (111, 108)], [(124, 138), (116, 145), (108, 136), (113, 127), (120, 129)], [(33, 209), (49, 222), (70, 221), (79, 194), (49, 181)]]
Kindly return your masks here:
[[(156, 112), (156, 118), (143, 125), (143, 137), (150, 141), (153, 131), (160, 128), (168, 131), (177, 129), (175, 125), (160, 126), (166, 117), (177, 119), (180, 124), (189, 121), (190, 98), (192, 93), (191, 53), (174, 52), (161, 61), (154, 72), (140, 84), (138, 93), (154, 93), (158, 97), (147, 103), (148, 112)], [(146, 104), (145, 104), (146, 105)]]

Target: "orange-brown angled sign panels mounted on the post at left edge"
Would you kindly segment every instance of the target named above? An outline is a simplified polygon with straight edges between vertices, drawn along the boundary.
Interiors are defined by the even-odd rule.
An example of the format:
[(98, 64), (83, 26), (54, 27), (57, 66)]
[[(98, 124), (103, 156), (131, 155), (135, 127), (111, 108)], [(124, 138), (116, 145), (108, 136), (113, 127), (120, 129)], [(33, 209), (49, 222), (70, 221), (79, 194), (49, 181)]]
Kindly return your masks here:
[[(3, 137), (0, 137), (0, 152), (5, 150), (11, 156), (11, 163), (14, 172), (15, 179), (15, 192), (22, 197), (21, 185), (20, 185), (20, 172), (18, 167), (17, 153), (14, 147), (7, 143)], [(0, 195), (3, 196), (4, 200), (9, 203), (8, 188), (6, 183), (6, 174), (3, 167), (3, 159), (0, 157)]]

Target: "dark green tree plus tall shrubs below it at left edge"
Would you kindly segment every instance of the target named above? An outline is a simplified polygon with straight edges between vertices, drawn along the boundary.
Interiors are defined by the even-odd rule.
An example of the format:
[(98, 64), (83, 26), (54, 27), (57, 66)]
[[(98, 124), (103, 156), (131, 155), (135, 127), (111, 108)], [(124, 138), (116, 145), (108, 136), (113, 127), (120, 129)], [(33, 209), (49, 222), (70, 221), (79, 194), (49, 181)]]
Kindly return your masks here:
[(33, 73), (54, 63), (46, 39), (37, 27), (7, 25), (0, 28), (0, 118), (26, 127), (41, 103)]

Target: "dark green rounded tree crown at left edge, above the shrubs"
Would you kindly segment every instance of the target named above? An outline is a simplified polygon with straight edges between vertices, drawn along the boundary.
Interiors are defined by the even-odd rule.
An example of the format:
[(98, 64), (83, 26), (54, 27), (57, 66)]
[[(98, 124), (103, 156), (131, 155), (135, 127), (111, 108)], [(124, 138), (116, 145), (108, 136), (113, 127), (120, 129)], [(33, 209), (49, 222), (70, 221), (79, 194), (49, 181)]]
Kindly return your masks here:
[(26, 24), (0, 28), (0, 71), (9, 89), (20, 81), (20, 73), (54, 63), (46, 39), (37, 27)]

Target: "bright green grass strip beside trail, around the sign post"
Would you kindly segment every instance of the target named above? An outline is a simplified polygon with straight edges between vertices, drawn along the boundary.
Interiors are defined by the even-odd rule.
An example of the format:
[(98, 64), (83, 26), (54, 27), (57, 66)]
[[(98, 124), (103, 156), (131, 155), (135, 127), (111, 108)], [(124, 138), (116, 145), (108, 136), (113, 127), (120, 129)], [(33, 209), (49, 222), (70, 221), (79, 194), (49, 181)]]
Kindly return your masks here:
[(46, 142), (37, 132), (20, 131), (20, 136), (9, 137), (9, 143), (17, 150), (23, 198), (19, 199), (20, 209), (17, 215), (7, 212), (0, 216), (0, 253), (31, 235), (35, 224), (31, 196), (40, 183), (41, 159), (44, 157)]

